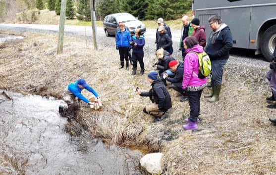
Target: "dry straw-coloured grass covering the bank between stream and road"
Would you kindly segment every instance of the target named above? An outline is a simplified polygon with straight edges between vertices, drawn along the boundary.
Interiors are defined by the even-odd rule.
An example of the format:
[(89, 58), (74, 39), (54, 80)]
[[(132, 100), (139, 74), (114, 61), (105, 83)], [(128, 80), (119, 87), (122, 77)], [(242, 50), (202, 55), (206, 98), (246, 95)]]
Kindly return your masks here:
[[(86, 46), (83, 38), (65, 35), (63, 54), (56, 55), (56, 35), (22, 35), (22, 42), (0, 45), (0, 81), (9, 90), (60, 98), (68, 83), (86, 79), (106, 107), (92, 112), (81, 103), (81, 125), (106, 142), (160, 150), (165, 154), (166, 174), (276, 172), (276, 128), (268, 121), (275, 111), (266, 108), (265, 97), (270, 92), (265, 68), (228, 63), (220, 101), (211, 104), (202, 97), (199, 130), (183, 131), (189, 105), (180, 103), (171, 89), (173, 107), (167, 119), (152, 123), (153, 118), (142, 112), (150, 100), (137, 96), (132, 88), (148, 89), (147, 76), (132, 77), (130, 71), (117, 69), (113, 38), (105, 38), (110, 40), (105, 43), (100, 40), (101, 48), (96, 51), (92, 44)], [(154, 54), (146, 52), (150, 52), (145, 56), (148, 73)]]

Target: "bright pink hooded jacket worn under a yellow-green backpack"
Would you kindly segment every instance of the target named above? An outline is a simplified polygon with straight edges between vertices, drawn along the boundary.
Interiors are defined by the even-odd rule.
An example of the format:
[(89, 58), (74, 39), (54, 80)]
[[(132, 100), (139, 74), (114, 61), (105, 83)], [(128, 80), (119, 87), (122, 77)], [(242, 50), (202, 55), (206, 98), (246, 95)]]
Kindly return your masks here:
[(183, 75), (183, 82), (182, 82), (183, 89), (187, 88), (188, 86), (197, 87), (207, 83), (207, 78), (200, 79), (196, 76), (198, 75), (198, 71), (199, 71), (198, 55), (190, 51), (202, 53), (204, 50), (201, 45), (197, 44), (193, 48), (188, 48), (185, 51), (187, 55), (185, 56), (185, 59), (184, 59), (184, 75)]

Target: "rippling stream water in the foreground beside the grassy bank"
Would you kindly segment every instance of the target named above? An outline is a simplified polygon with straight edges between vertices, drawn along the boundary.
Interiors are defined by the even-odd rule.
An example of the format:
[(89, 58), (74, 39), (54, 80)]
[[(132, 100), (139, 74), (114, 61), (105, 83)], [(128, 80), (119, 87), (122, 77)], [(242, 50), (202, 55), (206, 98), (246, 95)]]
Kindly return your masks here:
[(139, 175), (140, 151), (107, 147), (88, 133), (63, 131), (62, 103), (54, 98), (0, 90), (0, 174)]

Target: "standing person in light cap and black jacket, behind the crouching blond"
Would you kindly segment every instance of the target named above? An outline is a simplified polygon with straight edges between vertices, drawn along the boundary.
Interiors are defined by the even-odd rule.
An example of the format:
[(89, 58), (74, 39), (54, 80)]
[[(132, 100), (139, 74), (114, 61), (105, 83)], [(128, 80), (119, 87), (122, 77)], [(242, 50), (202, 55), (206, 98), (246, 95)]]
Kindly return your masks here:
[(168, 35), (165, 26), (159, 26), (158, 28), (159, 35), (157, 37), (156, 50), (164, 48), (170, 54), (172, 54), (172, 41), (171, 37)]

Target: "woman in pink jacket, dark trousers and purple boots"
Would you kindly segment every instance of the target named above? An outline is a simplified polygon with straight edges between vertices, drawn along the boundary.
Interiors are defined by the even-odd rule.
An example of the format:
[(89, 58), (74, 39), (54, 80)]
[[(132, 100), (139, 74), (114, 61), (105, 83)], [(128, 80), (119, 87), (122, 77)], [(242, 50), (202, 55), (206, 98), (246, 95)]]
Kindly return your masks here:
[(190, 105), (190, 117), (185, 119), (186, 125), (182, 128), (185, 130), (196, 130), (198, 128), (197, 122), (200, 112), (200, 97), (203, 88), (206, 87), (207, 79), (198, 78), (199, 62), (196, 53), (202, 53), (203, 47), (199, 45), (197, 39), (193, 36), (187, 37), (184, 41), (185, 53), (187, 55), (184, 59), (184, 75), (182, 88), (188, 94), (188, 101)]

